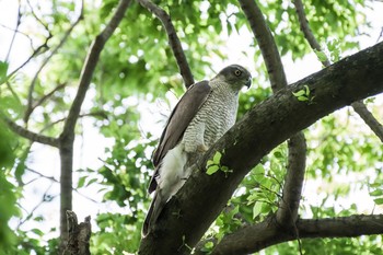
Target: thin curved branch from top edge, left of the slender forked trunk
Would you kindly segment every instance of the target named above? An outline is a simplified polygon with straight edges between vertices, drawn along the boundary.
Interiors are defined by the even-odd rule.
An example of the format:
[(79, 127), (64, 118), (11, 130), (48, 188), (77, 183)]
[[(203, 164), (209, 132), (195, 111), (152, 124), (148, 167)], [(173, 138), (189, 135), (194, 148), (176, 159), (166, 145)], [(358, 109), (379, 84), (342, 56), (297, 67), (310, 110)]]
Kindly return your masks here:
[[(30, 1), (27, 1), (28, 4), (30, 4)], [(32, 9), (32, 7), (31, 7)], [(39, 73), (43, 71), (44, 67), (49, 62), (49, 60), (51, 59), (53, 56), (56, 55), (56, 53), (59, 50), (59, 48), (62, 47), (62, 45), (67, 42), (67, 39), (69, 38), (69, 35), (72, 33), (73, 28), (80, 23), (80, 21), (83, 19), (83, 11), (84, 11), (84, 2), (83, 0), (81, 1), (81, 11), (80, 11), (80, 14), (79, 14), (79, 18), (76, 20), (76, 22), (69, 27), (69, 30), (65, 33), (62, 39), (60, 40), (60, 43), (51, 50), (51, 53), (49, 54), (49, 56), (47, 58), (44, 59), (43, 63), (40, 65), (40, 67), (38, 68), (38, 70), (36, 71), (35, 76), (33, 77), (32, 79), (32, 82), (31, 82), (31, 85), (30, 85), (30, 89), (28, 89), (28, 96), (27, 96), (27, 104), (26, 104), (26, 111), (25, 111), (25, 114), (24, 114), (24, 123), (26, 124), (30, 119), (30, 116), (32, 114), (32, 112), (34, 111), (34, 108), (36, 106), (38, 106), (39, 104), (35, 104), (33, 105), (33, 91), (35, 89), (35, 85), (36, 85), (36, 82), (37, 82), (37, 79), (38, 79), (38, 76)], [(34, 13), (34, 12), (33, 12)], [(34, 14), (36, 16), (36, 14)], [(36, 19), (38, 20), (38, 18), (36, 16)], [(40, 23), (43, 25), (45, 25), (42, 21)], [(46, 26), (46, 25), (45, 25)], [(46, 26), (46, 28), (48, 28)]]

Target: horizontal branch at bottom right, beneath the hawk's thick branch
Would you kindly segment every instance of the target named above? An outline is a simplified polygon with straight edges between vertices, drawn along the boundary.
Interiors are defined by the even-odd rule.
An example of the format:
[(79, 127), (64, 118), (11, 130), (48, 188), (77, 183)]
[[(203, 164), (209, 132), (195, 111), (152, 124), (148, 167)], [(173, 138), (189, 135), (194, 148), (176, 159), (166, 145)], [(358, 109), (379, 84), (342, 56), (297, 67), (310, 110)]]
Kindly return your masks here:
[[(383, 215), (350, 216), (328, 219), (300, 219), (297, 229), (301, 239), (313, 237), (351, 237), (369, 234), (381, 234)], [(274, 244), (297, 240), (292, 231), (280, 229), (270, 218), (258, 224), (248, 225), (235, 234), (229, 234), (216, 246), (212, 255), (249, 254)]]

